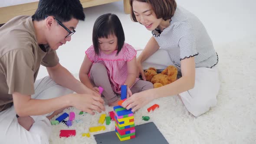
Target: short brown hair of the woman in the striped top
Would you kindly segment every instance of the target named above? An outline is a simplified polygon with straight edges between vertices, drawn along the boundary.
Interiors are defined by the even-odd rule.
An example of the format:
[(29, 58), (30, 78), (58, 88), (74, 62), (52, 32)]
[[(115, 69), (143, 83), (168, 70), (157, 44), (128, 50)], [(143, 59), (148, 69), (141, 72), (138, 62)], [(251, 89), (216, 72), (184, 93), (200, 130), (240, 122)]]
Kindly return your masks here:
[[(130, 0), (131, 5), (131, 20), (138, 22), (136, 20), (135, 14), (133, 13), (132, 2), (135, 0)], [(136, 0), (139, 2), (149, 3), (152, 10), (156, 14), (157, 18), (163, 18), (164, 20), (171, 19), (174, 15), (177, 4), (175, 0)]]

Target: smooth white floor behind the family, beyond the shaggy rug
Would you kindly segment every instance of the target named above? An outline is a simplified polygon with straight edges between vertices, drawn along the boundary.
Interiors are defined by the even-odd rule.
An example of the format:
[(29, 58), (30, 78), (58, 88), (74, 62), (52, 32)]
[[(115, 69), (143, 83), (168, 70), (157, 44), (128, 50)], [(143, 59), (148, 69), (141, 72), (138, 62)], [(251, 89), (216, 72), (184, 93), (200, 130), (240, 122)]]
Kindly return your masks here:
[[(200, 18), (215, 46), (256, 35), (255, 0), (177, 0), (177, 4)], [(79, 72), (84, 52), (92, 45), (93, 24), (101, 14), (118, 15), (125, 31), (126, 42), (135, 48), (144, 48), (152, 36), (144, 26), (132, 22), (130, 16), (124, 13), (122, 1), (84, 10), (85, 21), (79, 22), (72, 40), (57, 50), (60, 63), (72, 73)], [(37, 79), (46, 75), (46, 68), (41, 66)]]

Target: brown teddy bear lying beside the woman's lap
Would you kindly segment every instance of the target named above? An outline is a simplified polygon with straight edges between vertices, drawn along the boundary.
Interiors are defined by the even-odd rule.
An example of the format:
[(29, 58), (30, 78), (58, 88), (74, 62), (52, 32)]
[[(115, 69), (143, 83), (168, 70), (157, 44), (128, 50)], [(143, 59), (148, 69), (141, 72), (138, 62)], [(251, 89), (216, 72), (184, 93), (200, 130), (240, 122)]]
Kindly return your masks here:
[(147, 81), (154, 84), (154, 88), (158, 88), (176, 81), (177, 73), (177, 68), (170, 65), (159, 74), (155, 68), (149, 68), (145, 70), (144, 75)]

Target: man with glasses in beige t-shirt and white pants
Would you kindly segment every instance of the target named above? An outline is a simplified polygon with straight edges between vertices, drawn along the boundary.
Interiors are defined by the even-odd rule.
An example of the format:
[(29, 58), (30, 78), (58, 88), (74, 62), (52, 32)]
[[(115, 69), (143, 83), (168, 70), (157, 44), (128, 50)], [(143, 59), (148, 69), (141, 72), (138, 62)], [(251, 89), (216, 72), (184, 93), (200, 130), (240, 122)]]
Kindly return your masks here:
[[(76, 80), (56, 54), (79, 20), (85, 20), (79, 0), (40, 0), (32, 17), (0, 27), (1, 143), (49, 143), (49, 120), (69, 106), (92, 115), (105, 111), (99, 93)], [(36, 80), (40, 65), (49, 76)]]

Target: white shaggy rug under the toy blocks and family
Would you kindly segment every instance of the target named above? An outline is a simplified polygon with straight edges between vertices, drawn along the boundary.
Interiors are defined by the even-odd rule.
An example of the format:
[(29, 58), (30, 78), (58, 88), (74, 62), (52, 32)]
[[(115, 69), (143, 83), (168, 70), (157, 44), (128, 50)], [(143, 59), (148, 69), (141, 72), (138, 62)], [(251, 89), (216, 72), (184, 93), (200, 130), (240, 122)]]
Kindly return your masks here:
[[(216, 107), (195, 118), (177, 96), (160, 98), (135, 113), (135, 125), (148, 123), (141, 118), (150, 116), (170, 144), (256, 144), (256, 37), (215, 48), (221, 80)], [(153, 104), (160, 108), (148, 113), (147, 108)], [(75, 112), (76, 121), (69, 128), (53, 125), (50, 144), (96, 144), (93, 134), (115, 130), (111, 122), (105, 131), (82, 137), (89, 127), (99, 125), (101, 114), (79, 115), (75, 108), (65, 110), (69, 111)], [(106, 106), (105, 113), (108, 111), (112, 108)], [(62, 129), (75, 129), (76, 136), (59, 138)]]

